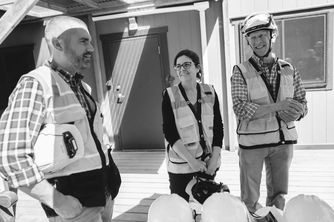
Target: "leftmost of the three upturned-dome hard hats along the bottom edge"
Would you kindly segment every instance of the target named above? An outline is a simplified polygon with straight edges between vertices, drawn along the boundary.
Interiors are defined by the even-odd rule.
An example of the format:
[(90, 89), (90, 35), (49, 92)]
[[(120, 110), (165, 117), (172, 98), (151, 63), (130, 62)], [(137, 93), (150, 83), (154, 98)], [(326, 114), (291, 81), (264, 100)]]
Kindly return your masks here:
[(192, 210), (188, 202), (179, 195), (163, 194), (148, 210), (147, 222), (193, 222)]

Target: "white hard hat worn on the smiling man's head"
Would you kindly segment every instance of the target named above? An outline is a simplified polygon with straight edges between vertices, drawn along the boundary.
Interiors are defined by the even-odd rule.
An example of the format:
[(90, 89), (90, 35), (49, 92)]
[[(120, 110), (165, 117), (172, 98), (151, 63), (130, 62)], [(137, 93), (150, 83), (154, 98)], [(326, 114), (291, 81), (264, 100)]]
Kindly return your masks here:
[(248, 36), (251, 32), (261, 29), (271, 29), (278, 35), (277, 25), (273, 15), (268, 12), (253, 12), (243, 20), (240, 27), (243, 36)]

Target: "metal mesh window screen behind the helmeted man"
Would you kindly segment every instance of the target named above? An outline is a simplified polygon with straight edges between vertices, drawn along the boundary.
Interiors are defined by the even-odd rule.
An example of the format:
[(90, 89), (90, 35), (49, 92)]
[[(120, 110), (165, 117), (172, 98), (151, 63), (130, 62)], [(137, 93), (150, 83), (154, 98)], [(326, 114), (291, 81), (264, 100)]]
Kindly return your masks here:
[[(272, 52), (294, 65), (304, 84), (326, 83), (327, 14), (275, 20), (278, 38)], [(253, 50), (240, 36), (240, 61), (248, 60)]]

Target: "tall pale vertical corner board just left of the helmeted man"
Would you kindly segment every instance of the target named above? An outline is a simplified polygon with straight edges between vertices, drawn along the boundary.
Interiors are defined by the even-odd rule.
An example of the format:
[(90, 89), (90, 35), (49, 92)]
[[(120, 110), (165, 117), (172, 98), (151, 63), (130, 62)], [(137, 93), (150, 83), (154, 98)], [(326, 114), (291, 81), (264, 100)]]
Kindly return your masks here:
[(235, 151), (234, 145), (234, 115), (233, 115), (233, 103), (231, 95), (231, 52), (230, 52), (230, 40), (229, 40), (229, 18), (227, 0), (223, 0), (223, 26), (224, 26), (224, 46), (225, 46), (225, 70), (226, 70), (226, 96), (227, 96), (227, 118), (228, 118), (228, 141), (229, 151)]

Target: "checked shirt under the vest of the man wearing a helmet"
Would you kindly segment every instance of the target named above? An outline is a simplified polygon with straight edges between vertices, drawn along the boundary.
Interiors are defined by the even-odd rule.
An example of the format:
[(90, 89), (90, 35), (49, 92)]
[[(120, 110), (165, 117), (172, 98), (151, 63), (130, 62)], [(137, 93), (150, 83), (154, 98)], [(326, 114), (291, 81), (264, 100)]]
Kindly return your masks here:
[[(258, 65), (260, 70), (266, 74), (266, 79), (268, 81), (268, 84), (270, 88), (272, 89), (272, 92), (274, 94), (274, 99), (276, 98), (276, 71), (277, 71), (277, 64), (278, 64), (278, 57), (275, 56), (275, 62), (273, 64), (273, 68), (271, 72), (269, 72), (268, 67), (266, 64), (264, 64), (263, 60), (261, 60), (259, 57), (253, 54), (252, 59), (255, 61), (255, 63)], [(302, 118), (307, 114), (307, 101), (306, 101), (306, 91), (304, 89), (302, 80), (300, 78), (299, 72), (294, 68), (295, 74), (294, 74), (294, 80), (293, 85), (295, 86), (295, 92), (293, 96), (293, 100), (298, 101), (303, 108), (304, 113), (302, 115)], [(231, 77), (231, 94), (232, 94), (232, 102), (233, 102), (233, 110), (234, 114), (237, 119), (240, 120), (253, 120), (252, 117), (256, 110), (258, 109), (259, 105), (248, 102), (248, 94), (247, 94), (247, 84), (242, 77), (242, 74), (240, 73), (239, 69), (237, 67), (234, 67), (233, 74)]]

